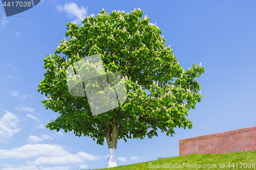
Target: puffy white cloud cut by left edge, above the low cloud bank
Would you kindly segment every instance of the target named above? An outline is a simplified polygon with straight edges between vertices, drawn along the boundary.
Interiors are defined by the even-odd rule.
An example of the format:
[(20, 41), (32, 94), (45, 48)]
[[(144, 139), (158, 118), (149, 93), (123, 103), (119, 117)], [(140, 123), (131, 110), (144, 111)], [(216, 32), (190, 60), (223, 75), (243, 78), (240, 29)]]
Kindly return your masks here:
[(12, 139), (14, 133), (19, 132), (19, 128), (17, 127), (17, 122), (20, 120), (17, 118), (15, 114), (8, 112), (5, 110), (6, 114), (2, 118), (0, 118), (0, 140), (8, 143), (5, 139)]

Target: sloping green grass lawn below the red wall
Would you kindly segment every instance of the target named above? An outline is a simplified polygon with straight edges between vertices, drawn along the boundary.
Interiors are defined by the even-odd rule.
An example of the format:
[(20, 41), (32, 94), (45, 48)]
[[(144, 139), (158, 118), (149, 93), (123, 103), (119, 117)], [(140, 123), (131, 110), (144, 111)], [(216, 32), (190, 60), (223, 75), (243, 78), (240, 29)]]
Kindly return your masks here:
[[(240, 163), (241, 162), (241, 163)], [(153, 168), (149, 165), (149, 163), (159, 164), (159, 168)], [(170, 168), (163, 167), (165, 163), (170, 164)], [(201, 168), (192, 167), (187, 168), (187, 166), (184, 166), (183, 168), (175, 168), (175, 164), (200, 164)], [(230, 163), (230, 167), (227, 167), (227, 165)], [(232, 163), (234, 167), (232, 167)], [(244, 164), (242, 164), (244, 163)], [(246, 164), (245, 164), (246, 163)], [(250, 163), (250, 168), (248, 167)], [(252, 167), (252, 163), (254, 163), (254, 167)], [(161, 167), (162, 164), (162, 167)], [(173, 167), (172, 168), (172, 164)], [(203, 165), (213, 165), (216, 164), (216, 167), (210, 167), (210, 168), (203, 168)], [(220, 164), (224, 164), (224, 168), (220, 167)], [(241, 167), (242, 165), (242, 167)], [(246, 167), (247, 165), (247, 167)], [(177, 166), (177, 165), (176, 165)], [(237, 168), (238, 166), (238, 168)], [(150, 168), (151, 167), (151, 168)], [(237, 152), (237, 153), (228, 153), (228, 154), (191, 154), (186, 156), (177, 156), (177, 157), (170, 157), (170, 158), (158, 158), (158, 160), (155, 161), (148, 161), (148, 162), (142, 162), (142, 163), (135, 163), (131, 165), (123, 165), (123, 166), (116, 166), (111, 168), (103, 168), (108, 170), (123, 170), (123, 169), (256, 169), (256, 151), (249, 151), (249, 152)], [(103, 170), (101, 169), (101, 170)], [(80, 169), (81, 170), (81, 169)], [(85, 170), (85, 169), (84, 169)]]

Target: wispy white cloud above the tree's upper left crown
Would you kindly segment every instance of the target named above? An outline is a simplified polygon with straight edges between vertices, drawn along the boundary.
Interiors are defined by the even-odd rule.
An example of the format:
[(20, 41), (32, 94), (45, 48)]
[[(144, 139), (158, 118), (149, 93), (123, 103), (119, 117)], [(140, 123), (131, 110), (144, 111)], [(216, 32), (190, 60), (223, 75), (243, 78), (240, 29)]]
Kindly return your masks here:
[(76, 23), (81, 22), (84, 19), (84, 15), (87, 14), (87, 7), (84, 8), (83, 6), (79, 7), (77, 6), (76, 3), (68, 3), (64, 6), (58, 5), (56, 7), (58, 12), (64, 11), (68, 14), (68, 17), (77, 17)]

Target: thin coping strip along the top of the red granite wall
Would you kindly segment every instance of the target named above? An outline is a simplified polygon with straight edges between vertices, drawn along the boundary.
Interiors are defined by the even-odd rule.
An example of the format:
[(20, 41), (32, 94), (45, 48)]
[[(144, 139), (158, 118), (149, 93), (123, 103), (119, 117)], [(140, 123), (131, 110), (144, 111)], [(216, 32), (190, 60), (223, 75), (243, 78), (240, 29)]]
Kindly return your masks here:
[[(240, 133), (240, 132), (253, 131), (253, 130), (256, 130), (256, 126), (252, 126), (249, 128), (236, 129), (236, 130), (231, 130), (231, 131), (224, 131), (224, 132), (219, 132), (219, 133), (212, 133), (212, 134), (208, 134), (208, 135), (209, 135), (209, 137), (211, 137), (211, 136), (216, 136), (216, 135), (219, 136), (219, 135), (232, 134), (232, 133), (234, 133), (234, 131), (236, 131), (237, 133)], [(185, 138), (185, 139), (180, 139), (180, 140), (184, 140), (184, 141), (197, 140), (197, 139), (202, 139), (202, 137), (204, 138), (205, 136), (207, 136), (207, 135), (190, 137), (190, 138)]]

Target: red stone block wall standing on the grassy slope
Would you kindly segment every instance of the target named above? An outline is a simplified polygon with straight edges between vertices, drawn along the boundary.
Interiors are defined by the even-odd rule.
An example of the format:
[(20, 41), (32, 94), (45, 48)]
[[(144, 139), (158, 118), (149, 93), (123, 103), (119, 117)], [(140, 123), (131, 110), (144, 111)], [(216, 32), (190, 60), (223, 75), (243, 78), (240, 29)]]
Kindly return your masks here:
[(256, 150), (256, 126), (179, 140), (179, 155)]

